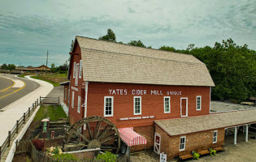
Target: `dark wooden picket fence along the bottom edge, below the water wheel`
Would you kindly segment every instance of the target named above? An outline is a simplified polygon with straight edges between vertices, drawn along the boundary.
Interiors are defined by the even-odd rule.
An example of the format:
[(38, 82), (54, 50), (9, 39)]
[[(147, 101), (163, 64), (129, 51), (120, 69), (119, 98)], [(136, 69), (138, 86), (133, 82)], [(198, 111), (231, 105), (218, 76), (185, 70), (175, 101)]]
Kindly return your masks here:
[[(28, 153), (33, 161), (37, 162), (103, 162), (104, 160), (64, 160), (46, 154), (45, 151), (38, 151), (31, 141), (16, 141), (15, 154)], [(118, 157), (116, 162), (130, 162), (128, 156)]]

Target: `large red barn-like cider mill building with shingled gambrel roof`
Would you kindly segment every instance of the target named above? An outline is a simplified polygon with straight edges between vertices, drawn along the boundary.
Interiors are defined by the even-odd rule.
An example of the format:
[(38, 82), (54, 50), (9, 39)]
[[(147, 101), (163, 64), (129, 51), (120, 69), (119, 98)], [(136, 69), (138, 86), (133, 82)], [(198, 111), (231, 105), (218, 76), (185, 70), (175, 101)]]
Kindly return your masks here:
[[(169, 158), (177, 156), (185, 150), (186, 139), (180, 139), (184, 136), (180, 133), (171, 137), (164, 121), (210, 113), (210, 87), (215, 84), (206, 65), (192, 55), (81, 36), (76, 36), (70, 54), (70, 83), (65, 84), (64, 103), (71, 123), (102, 116), (117, 128), (128, 127), (131, 134), (136, 132), (146, 139), (146, 144), (133, 143), (131, 151), (154, 147), (157, 153), (167, 152)], [(215, 138), (217, 143), (214, 131), (207, 130), (212, 135), (206, 136), (206, 141), (213, 143)], [(161, 136), (174, 138), (164, 140), (176, 143), (176, 151), (166, 145), (160, 149), (161, 143), (167, 144)], [(222, 144), (223, 139), (218, 143)]]

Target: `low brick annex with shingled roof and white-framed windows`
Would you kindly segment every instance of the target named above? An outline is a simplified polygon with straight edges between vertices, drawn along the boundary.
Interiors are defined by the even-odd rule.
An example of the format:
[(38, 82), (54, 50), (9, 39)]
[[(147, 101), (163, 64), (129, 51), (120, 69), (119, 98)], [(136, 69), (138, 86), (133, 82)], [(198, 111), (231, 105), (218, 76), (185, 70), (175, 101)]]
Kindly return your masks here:
[(248, 128), (256, 123), (255, 117), (256, 109), (253, 109), (154, 121), (155, 134), (162, 138), (154, 151), (167, 152), (168, 158), (171, 159), (182, 151), (222, 147), (225, 130), (228, 128), (235, 129), (236, 144), (237, 126), (245, 126), (245, 141), (248, 142)]

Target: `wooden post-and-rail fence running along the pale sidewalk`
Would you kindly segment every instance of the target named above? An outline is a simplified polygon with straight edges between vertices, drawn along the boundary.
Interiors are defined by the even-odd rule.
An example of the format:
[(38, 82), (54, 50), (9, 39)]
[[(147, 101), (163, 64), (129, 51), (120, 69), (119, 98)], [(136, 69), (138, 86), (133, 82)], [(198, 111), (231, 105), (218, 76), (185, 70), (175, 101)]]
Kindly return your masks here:
[(31, 116), (33, 111), (37, 108), (38, 104), (39, 102), (37, 99), (35, 103), (33, 103), (32, 106), (28, 108), (28, 111), (24, 113), (19, 120), (16, 121), (15, 126), (13, 126), (12, 129), (8, 131), (7, 139), (4, 141), (4, 143), (2, 143), (2, 146), (0, 146), (0, 160), (3, 154), (5, 153), (5, 151), (7, 151), (7, 148), (11, 147), (11, 140), (14, 139), (15, 134), (19, 134), (21, 127), (26, 123), (26, 121), (28, 121), (28, 118)]

